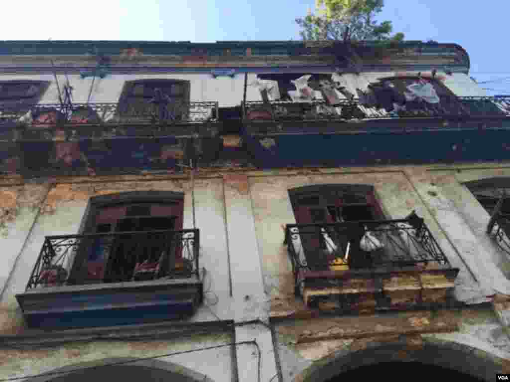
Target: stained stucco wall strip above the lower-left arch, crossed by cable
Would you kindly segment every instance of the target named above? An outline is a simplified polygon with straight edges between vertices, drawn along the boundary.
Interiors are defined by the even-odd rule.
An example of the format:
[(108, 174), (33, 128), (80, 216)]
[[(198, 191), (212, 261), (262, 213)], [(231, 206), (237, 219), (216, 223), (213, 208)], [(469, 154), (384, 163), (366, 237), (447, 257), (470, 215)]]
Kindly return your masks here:
[[(0, 348), (0, 376), (14, 378), (55, 372), (65, 366), (110, 358), (148, 359), (182, 365), (217, 382), (233, 380), (232, 336), (197, 335), (172, 340), (75, 342), (40, 348)], [(250, 348), (250, 344), (238, 345)], [(206, 348), (206, 349), (204, 349)], [(209, 348), (209, 349), (207, 349)], [(250, 365), (253, 366), (253, 365)]]

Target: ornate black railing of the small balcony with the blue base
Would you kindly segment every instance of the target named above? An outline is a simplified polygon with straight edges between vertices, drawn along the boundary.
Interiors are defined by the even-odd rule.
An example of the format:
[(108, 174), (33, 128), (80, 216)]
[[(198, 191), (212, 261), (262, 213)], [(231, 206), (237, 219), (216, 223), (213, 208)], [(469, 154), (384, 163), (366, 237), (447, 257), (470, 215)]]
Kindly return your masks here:
[(27, 290), (198, 276), (199, 248), (198, 229), (46, 236)]

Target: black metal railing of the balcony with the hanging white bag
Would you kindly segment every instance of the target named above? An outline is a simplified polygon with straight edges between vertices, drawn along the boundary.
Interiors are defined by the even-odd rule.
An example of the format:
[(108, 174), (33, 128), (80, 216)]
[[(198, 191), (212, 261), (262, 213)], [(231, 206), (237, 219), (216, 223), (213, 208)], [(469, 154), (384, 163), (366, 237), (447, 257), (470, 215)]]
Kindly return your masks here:
[(288, 224), (285, 243), (297, 276), (301, 271), (448, 265), (423, 219)]

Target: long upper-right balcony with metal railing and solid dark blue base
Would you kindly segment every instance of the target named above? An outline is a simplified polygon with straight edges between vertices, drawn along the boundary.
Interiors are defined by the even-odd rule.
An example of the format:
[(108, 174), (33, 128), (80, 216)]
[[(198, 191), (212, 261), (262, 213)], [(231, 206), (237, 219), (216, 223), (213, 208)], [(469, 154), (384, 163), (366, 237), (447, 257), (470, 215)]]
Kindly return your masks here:
[(510, 97), (413, 102), (390, 113), (357, 99), (246, 102), (243, 140), (264, 169), (510, 160)]

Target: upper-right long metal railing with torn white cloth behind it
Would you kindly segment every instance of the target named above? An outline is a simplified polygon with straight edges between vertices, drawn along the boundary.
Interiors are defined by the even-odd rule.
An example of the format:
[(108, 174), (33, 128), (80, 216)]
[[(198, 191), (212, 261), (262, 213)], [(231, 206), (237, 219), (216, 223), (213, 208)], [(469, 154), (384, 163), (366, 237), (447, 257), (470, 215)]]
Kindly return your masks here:
[(315, 101), (246, 101), (244, 117), (249, 121), (327, 121), (380, 118), (510, 117), (510, 97), (441, 97), (438, 104), (409, 102), (391, 112), (369, 107), (358, 98), (328, 104)]

